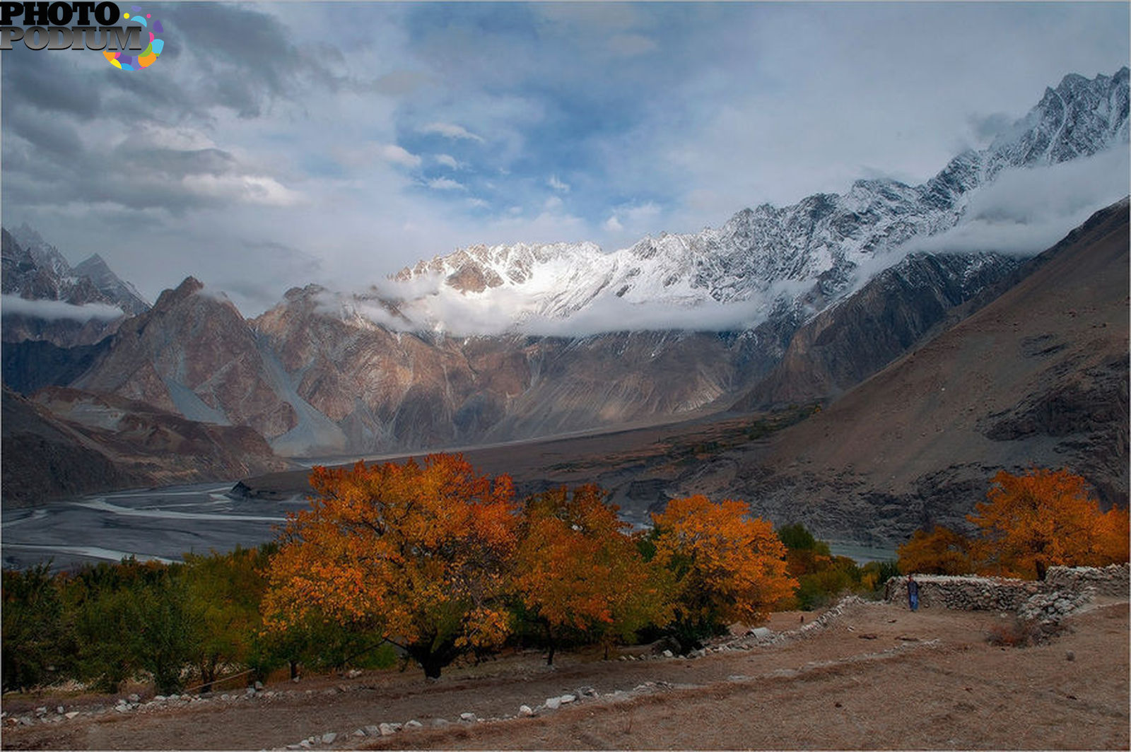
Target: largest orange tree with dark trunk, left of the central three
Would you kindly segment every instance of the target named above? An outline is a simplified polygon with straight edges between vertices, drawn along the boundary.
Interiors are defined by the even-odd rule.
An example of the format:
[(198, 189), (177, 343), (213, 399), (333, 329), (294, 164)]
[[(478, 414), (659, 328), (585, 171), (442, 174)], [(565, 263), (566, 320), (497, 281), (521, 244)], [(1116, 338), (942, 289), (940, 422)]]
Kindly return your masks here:
[(423, 465), (316, 467), (310, 482), (317, 496), (290, 516), (268, 567), (268, 630), (312, 616), (372, 629), (429, 677), (502, 642), (518, 525), (509, 476), (432, 455)]

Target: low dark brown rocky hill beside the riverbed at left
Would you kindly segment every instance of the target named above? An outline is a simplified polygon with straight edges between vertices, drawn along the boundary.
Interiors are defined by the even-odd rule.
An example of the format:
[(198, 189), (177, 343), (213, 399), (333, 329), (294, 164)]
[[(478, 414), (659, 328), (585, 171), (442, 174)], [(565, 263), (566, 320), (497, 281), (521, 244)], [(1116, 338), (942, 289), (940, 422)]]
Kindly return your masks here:
[(290, 467), (249, 427), (205, 425), (75, 389), (49, 388), (26, 399), (5, 387), (0, 426), (5, 508)]

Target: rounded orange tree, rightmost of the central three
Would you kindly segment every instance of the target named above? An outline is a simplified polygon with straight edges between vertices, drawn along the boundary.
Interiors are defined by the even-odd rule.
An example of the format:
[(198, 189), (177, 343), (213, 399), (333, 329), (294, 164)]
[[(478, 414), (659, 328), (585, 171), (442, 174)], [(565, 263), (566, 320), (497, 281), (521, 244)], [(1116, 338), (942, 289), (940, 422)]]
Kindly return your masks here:
[(786, 548), (774, 526), (742, 501), (673, 499), (655, 525), (653, 562), (674, 582), (673, 637), (689, 649), (729, 622), (757, 624), (793, 597)]

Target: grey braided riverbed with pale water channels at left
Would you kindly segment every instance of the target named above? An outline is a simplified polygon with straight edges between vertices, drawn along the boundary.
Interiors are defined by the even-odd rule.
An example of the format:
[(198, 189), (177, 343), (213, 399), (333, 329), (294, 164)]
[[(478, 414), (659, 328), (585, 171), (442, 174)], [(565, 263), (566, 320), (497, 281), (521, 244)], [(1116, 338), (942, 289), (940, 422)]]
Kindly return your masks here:
[(51, 561), (71, 569), (98, 561), (181, 561), (185, 553), (231, 551), (275, 538), (286, 513), (307, 507), (286, 501), (231, 499), (233, 483), (201, 483), (121, 491), (6, 511), (0, 556), (8, 568)]

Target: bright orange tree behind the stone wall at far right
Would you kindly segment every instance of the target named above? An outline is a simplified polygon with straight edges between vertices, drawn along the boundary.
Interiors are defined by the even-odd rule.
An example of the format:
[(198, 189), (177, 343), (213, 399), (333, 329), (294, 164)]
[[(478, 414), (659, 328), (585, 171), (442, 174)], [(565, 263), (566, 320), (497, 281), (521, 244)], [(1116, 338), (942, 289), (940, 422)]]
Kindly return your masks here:
[(1128, 512), (1106, 515), (1067, 469), (1001, 470), (968, 518), (981, 528), (978, 570), (1044, 579), (1048, 567), (1102, 567), (1128, 559)]

